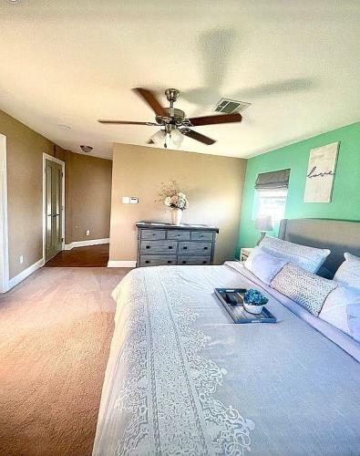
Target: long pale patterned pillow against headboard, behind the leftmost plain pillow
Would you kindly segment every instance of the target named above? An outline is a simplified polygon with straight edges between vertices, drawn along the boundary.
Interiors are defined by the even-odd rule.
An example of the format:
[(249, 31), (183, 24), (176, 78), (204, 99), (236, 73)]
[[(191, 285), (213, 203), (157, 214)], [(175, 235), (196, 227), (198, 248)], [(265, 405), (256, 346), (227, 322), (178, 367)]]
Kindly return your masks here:
[(259, 244), (266, 254), (283, 258), (288, 262), (297, 264), (309, 273), (317, 273), (330, 254), (329, 249), (317, 249), (307, 245), (293, 244), (273, 236), (265, 236)]

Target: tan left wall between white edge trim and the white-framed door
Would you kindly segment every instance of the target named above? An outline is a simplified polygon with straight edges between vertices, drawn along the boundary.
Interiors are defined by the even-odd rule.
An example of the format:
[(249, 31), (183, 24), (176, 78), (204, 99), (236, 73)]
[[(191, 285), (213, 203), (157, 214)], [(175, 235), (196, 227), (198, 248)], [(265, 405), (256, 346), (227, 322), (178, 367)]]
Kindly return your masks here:
[[(0, 133), (6, 136), (7, 218), (10, 278), (43, 256), (43, 152), (54, 144), (0, 111)], [(20, 255), (24, 263), (19, 263)]]

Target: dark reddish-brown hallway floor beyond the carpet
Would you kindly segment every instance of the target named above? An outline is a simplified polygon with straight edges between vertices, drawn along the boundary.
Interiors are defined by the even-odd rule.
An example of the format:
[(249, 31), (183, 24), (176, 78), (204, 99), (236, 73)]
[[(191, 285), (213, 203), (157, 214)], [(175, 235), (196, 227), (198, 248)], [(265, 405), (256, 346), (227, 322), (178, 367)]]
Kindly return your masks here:
[(63, 250), (45, 264), (46, 267), (107, 267), (107, 265), (108, 244)]

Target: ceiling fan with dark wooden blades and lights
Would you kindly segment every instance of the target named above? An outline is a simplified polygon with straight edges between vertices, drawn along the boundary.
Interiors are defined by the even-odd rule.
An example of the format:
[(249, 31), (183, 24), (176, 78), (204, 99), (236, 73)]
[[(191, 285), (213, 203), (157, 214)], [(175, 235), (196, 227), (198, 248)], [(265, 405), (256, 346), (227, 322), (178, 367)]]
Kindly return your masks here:
[(211, 138), (202, 135), (198, 131), (191, 130), (191, 128), (199, 127), (201, 125), (215, 125), (242, 121), (242, 116), (239, 113), (188, 119), (183, 110), (174, 108), (174, 102), (180, 95), (180, 91), (176, 88), (167, 88), (165, 90), (166, 98), (168, 98), (168, 101), (170, 102), (169, 108), (163, 108), (155, 93), (148, 88), (133, 88), (133, 90), (140, 98), (148, 103), (149, 107), (155, 112), (155, 122), (132, 122), (128, 120), (98, 120), (98, 122), (117, 125), (149, 125), (150, 127), (160, 127), (160, 130), (148, 140), (148, 144), (163, 145), (167, 148), (168, 142), (170, 142), (174, 147), (180, 147), (183, 137), (188, 136), (192, 140), (198, 140), (203, 144), (210, 146), (216, 141), (211, 140)]

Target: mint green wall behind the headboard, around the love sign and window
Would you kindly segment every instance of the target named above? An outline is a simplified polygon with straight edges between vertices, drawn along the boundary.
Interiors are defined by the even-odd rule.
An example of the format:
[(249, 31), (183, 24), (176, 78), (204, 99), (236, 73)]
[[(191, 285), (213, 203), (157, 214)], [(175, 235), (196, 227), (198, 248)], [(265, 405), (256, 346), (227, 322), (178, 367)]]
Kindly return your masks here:
[[(340, 147), (332, 202), (303, 202), (310, 150), (337, 141)], [(248, 160), (237, 256), (241, 247), (254, 246), (260, 236), (254, 228), (257, 209), (254, 185), (257, 175), (286, 168), (290, 168), (291, 173), (285, 218), (360, 221), (360, 122), (356, 122)], [(277, 234), (277, 228), (273, 235)]]

